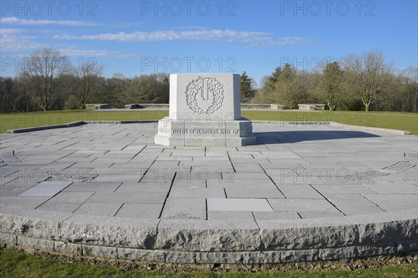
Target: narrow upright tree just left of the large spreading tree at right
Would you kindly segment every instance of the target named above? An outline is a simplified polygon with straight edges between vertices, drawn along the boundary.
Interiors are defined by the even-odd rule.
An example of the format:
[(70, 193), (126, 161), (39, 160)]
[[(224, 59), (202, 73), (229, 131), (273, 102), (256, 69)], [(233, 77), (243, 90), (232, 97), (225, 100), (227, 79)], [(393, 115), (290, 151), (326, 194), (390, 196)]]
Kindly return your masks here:
[(327, 101), (330, 111), (335, 109), (343, 92), (343, 71), (337, 62), (327, 63), (320, 80), (320, 95)]

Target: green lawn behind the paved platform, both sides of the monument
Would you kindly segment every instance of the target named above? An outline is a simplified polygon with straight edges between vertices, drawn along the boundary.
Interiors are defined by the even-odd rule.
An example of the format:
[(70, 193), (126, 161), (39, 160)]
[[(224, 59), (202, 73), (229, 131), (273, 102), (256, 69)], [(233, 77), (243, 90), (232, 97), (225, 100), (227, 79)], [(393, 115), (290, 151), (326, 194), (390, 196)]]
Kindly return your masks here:
[[(0, 114), (0, 133), (8, 129), (98, 120), (160, 120), (168, 111), (50, 111)], [(341, 124), (412, 131), (418, 135), (418, 113), (340, 111), (242, 111), (249, 120), (340, 122)]]

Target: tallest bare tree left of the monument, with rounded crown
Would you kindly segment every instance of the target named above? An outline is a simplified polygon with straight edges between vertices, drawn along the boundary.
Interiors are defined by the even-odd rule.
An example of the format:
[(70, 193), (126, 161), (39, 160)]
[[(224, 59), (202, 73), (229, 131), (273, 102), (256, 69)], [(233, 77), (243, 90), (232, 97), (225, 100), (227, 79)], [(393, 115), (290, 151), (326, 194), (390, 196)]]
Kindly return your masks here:
[(49, 110), (54, 104), (59, 78), (70, 70), (70, 64), (68, 58), (58, 50), (45, 48), (33, 52), (26, 67), (20, 72), (31, 85), (31, 90), (43, 111)]

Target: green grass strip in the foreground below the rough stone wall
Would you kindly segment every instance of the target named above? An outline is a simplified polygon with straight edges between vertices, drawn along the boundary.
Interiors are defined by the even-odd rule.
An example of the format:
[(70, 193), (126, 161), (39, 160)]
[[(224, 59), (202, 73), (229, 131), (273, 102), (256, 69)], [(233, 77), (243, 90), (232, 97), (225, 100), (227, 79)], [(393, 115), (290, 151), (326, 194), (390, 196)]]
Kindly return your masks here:
[[(338, 268), (337, 268), (338, 269)], [(39, 256), (22, 254), (15, 251), (0, 251), (0, 277), (194, 277), (194, 278), (268, 278), (268, 277), (418, 277), (418, 264), (400, 264), (396, 266), (383, 266), (373, 269), (358, 270), (323, 270), (323, 271), (291, 271), (291, 272), (257, 272), (257, 273), (216, 273), (216, 272), (153, 272), (131, 270), (130, 268), (110, 268), (104, 265), (91, 265), (84, 263), (71, 263), (57, 261)]]

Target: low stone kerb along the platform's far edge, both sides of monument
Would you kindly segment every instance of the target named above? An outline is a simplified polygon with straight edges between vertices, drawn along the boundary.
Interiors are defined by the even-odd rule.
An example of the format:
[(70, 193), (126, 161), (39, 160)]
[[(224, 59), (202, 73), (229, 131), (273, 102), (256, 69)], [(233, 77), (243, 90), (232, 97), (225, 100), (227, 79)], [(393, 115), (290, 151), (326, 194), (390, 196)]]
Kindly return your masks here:
[[(65, 127), (81, 126), (84, 124), (147, 124), (155, 123), (158, 120), (121, 120), (121, 121), (78, 121), (70, 122), (68, 124), (56, 124), (51, 126), (35, 126), (27, 127), (24, 129), (10, 129), (6, 133), (24, 133), (31, 131), (42, 131), (47, 129), (62, 129)], [(266, 120), (252, 120), (251, 122), (259, 124), (302, 124), (302, 125), (329, 125), (336, 126), (342, 129), (353, 129), (353, 130), (362, 130), (362, 131), (376, 131), (376, 132), (387, 132), (398, 135), (410, 135), (411, 131), (403, 131), (398, 129), (384, 129), (380, 127), (369, 127), (369, 126), (353, 126), (349, 124), (341, 124), (339, 122), (283, 122), (283, 121), (266, 121)]]

